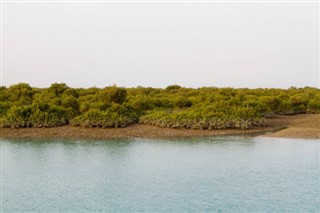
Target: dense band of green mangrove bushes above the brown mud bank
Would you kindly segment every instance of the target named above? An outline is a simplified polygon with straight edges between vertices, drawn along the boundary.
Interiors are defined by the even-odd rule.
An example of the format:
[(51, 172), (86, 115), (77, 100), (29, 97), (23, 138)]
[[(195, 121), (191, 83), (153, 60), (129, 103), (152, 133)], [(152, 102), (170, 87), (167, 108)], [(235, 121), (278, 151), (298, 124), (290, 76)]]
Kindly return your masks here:
[(33, 88), (0, 87), (0, 126), (125, 127), (142, 123), (185, 129), (248, 129), (274, 114), (320, 112), (320, 90), (203, 87), (70, 88), (54, 83)]

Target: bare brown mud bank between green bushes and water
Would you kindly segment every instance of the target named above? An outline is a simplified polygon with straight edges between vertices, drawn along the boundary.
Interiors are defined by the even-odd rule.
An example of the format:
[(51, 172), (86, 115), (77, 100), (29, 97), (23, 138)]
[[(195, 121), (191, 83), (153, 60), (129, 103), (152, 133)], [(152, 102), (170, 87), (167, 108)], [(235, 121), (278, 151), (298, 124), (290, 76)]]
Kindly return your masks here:
[(267, 119), (267, 127), (249, 130), (185, 130), (169, 129), (143, 124), (124, 128), (83, 128), (70, 125), (54, 128), (0, 128), (0, 138), (74, 138), (74, 139), (120, 139), (120, 138), (177, 138), (219, 135), (252, 135), (281, 138), (320, 138), (320, 114), (275, 116)]

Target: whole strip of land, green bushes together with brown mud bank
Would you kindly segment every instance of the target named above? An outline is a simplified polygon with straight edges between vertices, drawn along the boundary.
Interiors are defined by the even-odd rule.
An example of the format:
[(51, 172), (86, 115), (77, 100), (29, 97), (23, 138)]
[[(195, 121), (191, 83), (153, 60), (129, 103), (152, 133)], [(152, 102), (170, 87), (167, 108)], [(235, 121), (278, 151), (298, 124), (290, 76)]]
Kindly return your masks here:
[[(320, 138), (312, 87), (0, 88), (0, 137), (129, 138), (270, 133)], [(280, 131), (281, 130), (281, 131)]]

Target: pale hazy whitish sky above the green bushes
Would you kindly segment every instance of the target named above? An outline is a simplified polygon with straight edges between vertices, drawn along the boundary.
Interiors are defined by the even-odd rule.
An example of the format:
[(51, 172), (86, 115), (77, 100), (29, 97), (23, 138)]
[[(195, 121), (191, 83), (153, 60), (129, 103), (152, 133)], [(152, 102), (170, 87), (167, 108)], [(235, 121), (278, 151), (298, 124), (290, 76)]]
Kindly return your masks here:
[(3, 84), (319, 87), (319, 3), (2, 3)]

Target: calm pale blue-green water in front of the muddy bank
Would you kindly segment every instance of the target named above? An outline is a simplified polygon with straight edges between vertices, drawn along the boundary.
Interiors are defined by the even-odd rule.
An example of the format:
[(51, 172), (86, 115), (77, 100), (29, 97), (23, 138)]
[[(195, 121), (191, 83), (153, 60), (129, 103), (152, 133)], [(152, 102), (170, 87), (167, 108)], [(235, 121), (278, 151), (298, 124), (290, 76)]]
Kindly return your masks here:
[(0, 140), (3, 212), (319, 212), (319, 141)]

